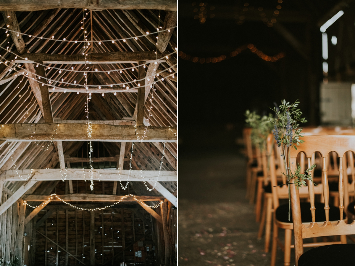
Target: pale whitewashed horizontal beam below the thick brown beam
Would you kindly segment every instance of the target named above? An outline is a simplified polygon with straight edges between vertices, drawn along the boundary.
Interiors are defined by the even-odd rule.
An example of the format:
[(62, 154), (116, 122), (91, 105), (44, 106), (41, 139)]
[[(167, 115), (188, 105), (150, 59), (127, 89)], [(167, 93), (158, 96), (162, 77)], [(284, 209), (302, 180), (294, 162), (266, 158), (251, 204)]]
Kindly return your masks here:
[[(33, 174), (31, 181), (62, 180), (60, 169), (33, 169), (33, 170), (25, 169), (25, 170), (17, 170), (17, 171), (7, 170), (1, 174), (1, 178), (6, 181), (10, 181), (10, 180), (22, 181), (20, 176), (26, 177), (28, 174), (31, 174), (31, 171)], [(90, 175), (90, 169), (67, 168), (66, 174), (67, 174), (66, 180), (88, 180)], [(155, 180), (157, 180), (158, 174), (159, 171), (149, 171), (149, 170), (142, 170), (142, 171), (120, 170), (120, 172), (116, 169), (94, 169), (93, 170), (94, 180), (101, 180), (101, 181), (121, 180), (121, 181), (154, 181), (155, 182)], [(158, 181), (162, 181), (162, 182), (177, 181), (176, 171), (160, 171)]]

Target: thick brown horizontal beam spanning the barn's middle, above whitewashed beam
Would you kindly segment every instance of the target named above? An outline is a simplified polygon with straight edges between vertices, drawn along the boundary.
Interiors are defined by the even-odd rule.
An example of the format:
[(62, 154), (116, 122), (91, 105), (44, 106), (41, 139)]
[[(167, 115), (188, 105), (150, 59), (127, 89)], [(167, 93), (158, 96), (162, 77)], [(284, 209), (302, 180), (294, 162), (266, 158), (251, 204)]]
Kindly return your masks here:
[[(110, 141), (140, 142), (145, 126), (91, 124), (91, 138), (87, 134), (87, 124), (45, 123), (45, 124), (4, 124), (0, 130), (0, 140), (7, 141)], [(176, 127), (149, 127), (143, 142), (177, 142)], [(140, 139), (138, 139), (140, 138)]]

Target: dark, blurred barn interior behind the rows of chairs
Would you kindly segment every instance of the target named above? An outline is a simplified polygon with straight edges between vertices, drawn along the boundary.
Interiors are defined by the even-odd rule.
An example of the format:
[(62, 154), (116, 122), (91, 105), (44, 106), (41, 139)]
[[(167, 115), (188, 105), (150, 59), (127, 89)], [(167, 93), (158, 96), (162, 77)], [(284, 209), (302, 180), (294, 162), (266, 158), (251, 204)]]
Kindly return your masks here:
[[(327, 32), (337, 34), (339, 23), (345, 23), (348, 32), (345, 35), (348, 36), (349, 32), (355, 31), (351, 8), (354, 5), (351, 5), (352, 1), (341, 2), (344, 15)], [(195, 6), (193, 1), (178, 2), (178, 48), (191, 55), (190, 60), (178, 59), (180, 155), (197, 150), (236, 149), (236, 138), (241, 137), (244, 127), (245, 110), (264, 114), (271, 111), (268, 106), (273, 107), (274, 102), (279, 104), (281, 99), (300, 99), (301, 110), (309, 120), (307, 125), (320, 123), (319, 86), (324, 76), (322, 33), (318, 25), (338, 12), (334, 11), (334, 6), (339, 1), (285, 0), (278, 3), (272, 0), (247, 3), (254, 10), (243, 12), (245, 1), (208, 2), (206, 9), (215, 7), (208, 14), (215, 16), (207, 17), (202, 24), (194, 19), (197, 12), (193, 12), (194, 8), (200, 8), (200, 2), (196, 2)], [(269, 27), (261, 21), (261, 12), (257, 9), (263, 7), (270, 21), (273, 11), (278, 10), (277, 5), (282, 6), (280, 14), (275, 17), (277, 22)], [(241, 15), (245, 16), (245, 20), (240, 22), (238, 17)], [(278, 24), (283, 30), (277, 28)], [(288, 34), (297, 42), (290, 41)], [(332, 34), (328, 33), (329, 43)], [(191, 61), (193, 57), (218, 57), (222, 54), (228, 57), (230, 52), (249, 43), (267, 55), (282, 52), (285, 57), (277, 62), (266, 62), (246, 49), (219, 63)], [(347, 44), (353, 45), (351, 40)], [(331, 44), (328, 46), (331, 50)], [(351, 60), (355, 62), (353, 58)], [(344, 69), (337, 69), (338, 73), (332, 71), (329, 65), (329, 80), (332, 80), (332, 74), (337, 74), (338, 80), (339, 75), (340, 80), (354, 79), (346, 75)]]

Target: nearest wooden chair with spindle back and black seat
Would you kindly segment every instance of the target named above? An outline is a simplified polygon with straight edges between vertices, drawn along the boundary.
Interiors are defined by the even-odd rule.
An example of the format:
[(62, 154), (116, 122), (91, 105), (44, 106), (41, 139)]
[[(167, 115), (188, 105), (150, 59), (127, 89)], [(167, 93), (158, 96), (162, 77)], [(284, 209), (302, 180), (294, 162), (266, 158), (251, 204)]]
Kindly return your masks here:
[[(327, 135), (327, 136), (305, 136), (305, 142), (297, 149), (291, 149), (291, 170), (296, 167), (296, 157), (300, 152), (305, 153), (308, 166), (311, 165), (311, 156), (315, 151), (321, 154), (323, 159), (322, 168), (322, 189), (324, 197), (324, 206), (319, 208), (315, 203), (315, 186), (312, 182), (308, 183), (308, 192), (310, 199), (310, 210), (302, 211), (300, 203), (300, 190), (297, 190), (295, 184), (290, 185), (291, 208), (293, 214), (293, 228), (295, 232), (295, 260), (296, 266), (306, 265), (354, 265), (355, 264), (355, 244), (346, 244), (346, 235), (355, 234), (355, 221), (346, 224), (344, 210), (344, 187), (347, 183), (344, 179), (343, 158), (348, 151), (355, 151), (354, 135)], [(339, 208), (332, 207), (329, 204), (329, 183), (327, 175), (328, 154), (334, 151), (339, 156)], [(323, 210), (324, 209), (324, 210)], [(305, 221), (305, 216), (310, 216), (311, 221)], [(338, 219), (335, 219), (337, 217)], [(308, 250), (304, 253), (303, 239), (340, 235), (340, 241), (331, 243), (322, 243), (317, 248)], [(319, 244), (319, 243), (312, 243)], [(324, 245), (326, 244), (326, 245)], [(316, 245), (313, 245), (316, 246)]]

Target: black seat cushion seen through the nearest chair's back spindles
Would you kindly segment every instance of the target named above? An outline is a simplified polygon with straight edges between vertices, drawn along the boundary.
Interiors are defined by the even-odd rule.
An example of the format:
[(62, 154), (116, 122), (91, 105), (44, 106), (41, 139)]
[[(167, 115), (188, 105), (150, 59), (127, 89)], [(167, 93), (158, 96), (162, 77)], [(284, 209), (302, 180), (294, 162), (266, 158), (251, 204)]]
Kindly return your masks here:
[[(316, 222), (324, 222), (326, 220), (326, 213), (324, 212), (324, 203), (315, 202), (316, 208)], [(311, 213), (311, 203), (301, 202), (301, 217), (302, 223), (312, 222)], [(339, 208), (329, 204), (329, 220), (337, 221), (340, 220)], [(345, 213), (343, 214), (343, 219), (345, 219)], [(276, 209), (276, 219), (284, 223), (292, 223), (292, 210), (290, 208), (290, 221), (288, 221), (288, 203), (280, 205)]]

